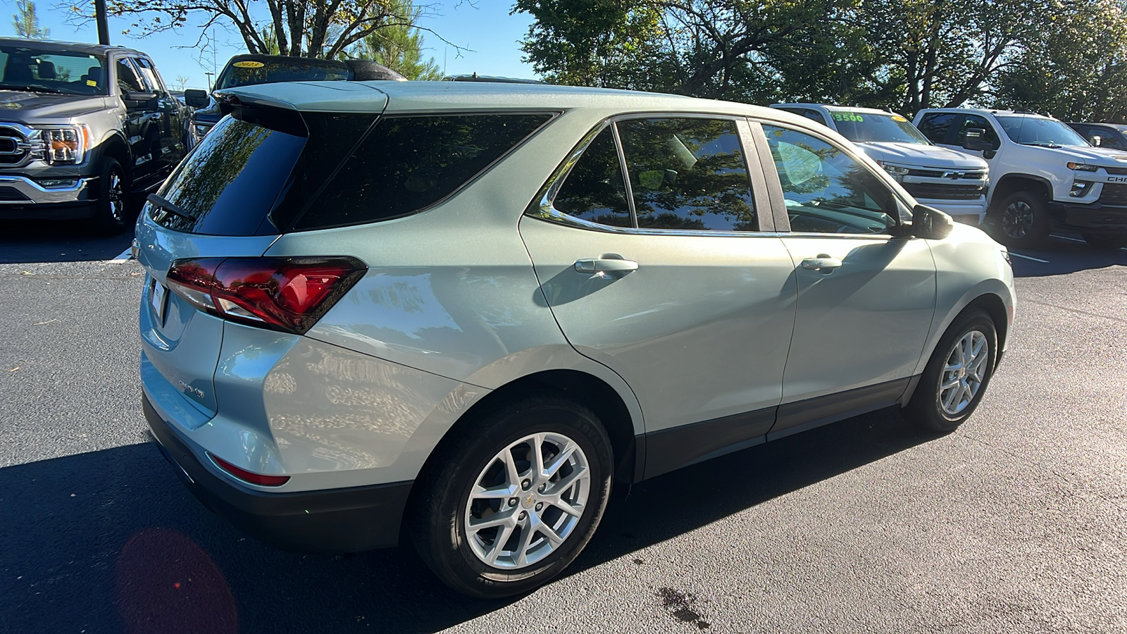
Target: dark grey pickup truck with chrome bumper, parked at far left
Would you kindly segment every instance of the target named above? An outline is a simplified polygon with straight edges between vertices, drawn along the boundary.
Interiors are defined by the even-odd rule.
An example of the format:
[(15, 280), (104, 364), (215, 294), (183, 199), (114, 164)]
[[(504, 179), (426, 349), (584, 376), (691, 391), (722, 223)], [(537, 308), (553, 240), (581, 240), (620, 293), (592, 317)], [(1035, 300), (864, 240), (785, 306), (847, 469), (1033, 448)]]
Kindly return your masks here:
[(5, 37), (0, 73), (0, 220), (123, 231), (184, 157), (188, 113), (141, 51)]

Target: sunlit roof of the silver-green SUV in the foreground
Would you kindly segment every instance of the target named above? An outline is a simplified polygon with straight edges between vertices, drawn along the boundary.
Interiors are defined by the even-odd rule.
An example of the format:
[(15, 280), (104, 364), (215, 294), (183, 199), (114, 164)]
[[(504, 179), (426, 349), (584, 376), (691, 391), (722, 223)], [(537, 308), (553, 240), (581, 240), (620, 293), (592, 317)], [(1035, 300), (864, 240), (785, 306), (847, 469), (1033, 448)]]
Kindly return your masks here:
[(681, 95), (486, 81), (294, 81), (260, 83), (219, 91), (245, 103), (263, 103), (312, 112), (388, 113), (458, 111), (544, 111), (607, 108), (620, 112), (684, 111), (767, 116), (808, 123), (804, 117), (761, 106), (696, 99)]

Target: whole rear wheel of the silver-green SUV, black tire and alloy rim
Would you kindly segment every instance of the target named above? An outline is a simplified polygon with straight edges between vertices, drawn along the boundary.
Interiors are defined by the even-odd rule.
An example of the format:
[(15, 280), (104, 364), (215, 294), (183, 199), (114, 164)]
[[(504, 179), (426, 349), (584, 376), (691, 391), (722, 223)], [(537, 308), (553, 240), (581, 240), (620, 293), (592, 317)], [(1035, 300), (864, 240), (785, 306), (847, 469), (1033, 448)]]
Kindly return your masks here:
[(447, 585), (483, 599), (558, 576), (591, 540), (611, 491), (610, 440), (586, 407), (533, 396), (494, 407), (433, 457), (409, 535)]

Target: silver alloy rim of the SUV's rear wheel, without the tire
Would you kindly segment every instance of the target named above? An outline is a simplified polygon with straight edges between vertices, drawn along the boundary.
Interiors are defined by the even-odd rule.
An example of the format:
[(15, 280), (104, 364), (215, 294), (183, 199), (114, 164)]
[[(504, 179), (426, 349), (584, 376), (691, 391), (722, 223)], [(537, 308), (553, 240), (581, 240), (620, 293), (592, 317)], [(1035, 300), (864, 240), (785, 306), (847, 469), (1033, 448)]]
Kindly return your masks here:
[(529, 434), (481, 470), (465, 504), (470, 549), (505, 570), (530, 566), (575, 531), (591, 494), (587, 457), (570, 438)]

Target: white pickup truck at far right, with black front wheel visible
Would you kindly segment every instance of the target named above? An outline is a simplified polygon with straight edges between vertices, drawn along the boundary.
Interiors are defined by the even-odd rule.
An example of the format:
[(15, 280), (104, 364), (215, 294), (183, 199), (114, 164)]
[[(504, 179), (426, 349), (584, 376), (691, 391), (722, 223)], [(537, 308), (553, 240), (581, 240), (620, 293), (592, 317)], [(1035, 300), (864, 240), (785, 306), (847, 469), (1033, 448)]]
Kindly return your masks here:
[[(990, 164), (987, 222), (1015, 247), (1036, 247), (1053, 230), (1076, 231), (1101, 248), (1127, 246), (1127, 152), (1093, 148), (1042, 115), (978, 108), (929, 108), (915, 117), (933, 143)], [(969, 149), (980, 138), (982, 149)]]

